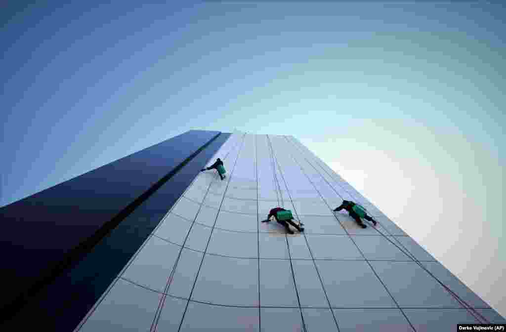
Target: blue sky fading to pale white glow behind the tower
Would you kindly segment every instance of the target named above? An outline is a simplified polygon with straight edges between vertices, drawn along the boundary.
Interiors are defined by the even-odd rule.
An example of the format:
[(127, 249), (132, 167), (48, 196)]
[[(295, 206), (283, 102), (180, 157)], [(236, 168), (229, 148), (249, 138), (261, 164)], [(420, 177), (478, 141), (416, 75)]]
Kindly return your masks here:
[(504, 5), (92, 3), (2, 4), (0, 205), (190, 129), (293, 135), (506, 316)]

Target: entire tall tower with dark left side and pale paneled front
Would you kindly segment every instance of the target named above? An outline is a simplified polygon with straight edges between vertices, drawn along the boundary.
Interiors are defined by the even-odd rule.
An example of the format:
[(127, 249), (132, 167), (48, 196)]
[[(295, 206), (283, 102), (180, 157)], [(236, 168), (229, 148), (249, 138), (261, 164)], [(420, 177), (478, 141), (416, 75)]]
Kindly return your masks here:
[[(227, 171), (200, 172), (221, 158)], [(343, 200), (378, 222), (359, 227)], [(305, 231), (262, 222), (292, 211)], [(0, 209), (7, 324), (455, 330), (505, 320), (291, 136), (190, 131)]]

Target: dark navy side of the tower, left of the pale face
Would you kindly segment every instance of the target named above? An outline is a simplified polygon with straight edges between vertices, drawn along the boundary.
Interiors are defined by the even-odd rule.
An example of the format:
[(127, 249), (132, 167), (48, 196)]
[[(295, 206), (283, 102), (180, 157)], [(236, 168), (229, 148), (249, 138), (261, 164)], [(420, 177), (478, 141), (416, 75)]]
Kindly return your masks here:
[(72, 330), (229, 135), (189, 131), (0, 208), (2, 329)]

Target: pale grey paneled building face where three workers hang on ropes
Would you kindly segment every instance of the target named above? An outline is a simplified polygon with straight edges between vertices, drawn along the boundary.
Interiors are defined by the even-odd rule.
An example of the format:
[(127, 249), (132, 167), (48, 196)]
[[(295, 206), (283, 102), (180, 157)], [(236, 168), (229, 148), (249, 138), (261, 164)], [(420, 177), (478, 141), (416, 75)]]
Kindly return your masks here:
[[(95, 292), (75, 331), (446, 331), (506, 323), (293, 137), (222, 139), (195, 161), (196, 173), (181, 176), (188, 183), (165, 211), (165, 196), (156, 193), (156, 209), (134, 211), (154, 215), (153, 228)], [(215, 170), (198, 172), (217, 157), (224, 180)], [(363, 205), (378, 225), (365, 221), (363, 229), (344, 210), (333, 212), (344, 199)], [(291, 210), (305, 231), (262, 222), (276, 206)], [(124, 237), (114, 229), (107, 248), (121, 251), (138, 223), (122, 227)]]

